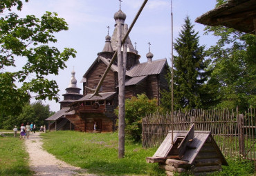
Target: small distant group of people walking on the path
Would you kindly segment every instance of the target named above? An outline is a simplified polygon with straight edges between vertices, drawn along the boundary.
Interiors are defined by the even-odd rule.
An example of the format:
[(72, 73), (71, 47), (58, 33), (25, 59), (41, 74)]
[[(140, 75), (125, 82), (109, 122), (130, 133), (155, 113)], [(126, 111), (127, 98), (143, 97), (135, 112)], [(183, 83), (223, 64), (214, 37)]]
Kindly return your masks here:
[[(31, 133), (33, 133), (33, 132), (35, 133), (36, 126), (35, 126), (35, 124), (33, 124), (33, 122), (31, 124), (27, 123), (26, 126), (24, 126), (24, 124), (21, 124), (20, 129), (21, 129), (21, 133), (19, 135), (19, 139), (21, 139), (21, 138), (25, 139), (25, 136), (28, 139), (28, 137)], [(40, 127), (40, 132), (43, 132), (43, 130), (44, 130), (44, 133), (46, 133), (46, 126), (44, 126), (44, 127), (41, 126)], [(15, 128), (13, 128), (13, 131), (14, 131), (15, 137), (17, 137), (17, 131), (18, 131), (17, 126), (15, 126)]]

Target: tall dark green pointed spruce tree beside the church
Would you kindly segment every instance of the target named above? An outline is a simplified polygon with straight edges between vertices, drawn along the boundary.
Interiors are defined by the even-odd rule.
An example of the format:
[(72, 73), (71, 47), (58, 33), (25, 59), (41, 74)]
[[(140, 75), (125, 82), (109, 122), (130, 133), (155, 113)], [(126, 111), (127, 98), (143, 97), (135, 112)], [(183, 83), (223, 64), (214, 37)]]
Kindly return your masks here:
[(174, 56), (174, 109), (202, 108), (206, 101), (202, 94), (207, 94), (203, 85), (210, 73), (210, 70), (205, 71), (209, 60), (205, 59), (205, 46), (199, 46), (198, 32), (193, 27), (190, 18), (185, 17), (185, 24), (174, 43), (178, 53)]

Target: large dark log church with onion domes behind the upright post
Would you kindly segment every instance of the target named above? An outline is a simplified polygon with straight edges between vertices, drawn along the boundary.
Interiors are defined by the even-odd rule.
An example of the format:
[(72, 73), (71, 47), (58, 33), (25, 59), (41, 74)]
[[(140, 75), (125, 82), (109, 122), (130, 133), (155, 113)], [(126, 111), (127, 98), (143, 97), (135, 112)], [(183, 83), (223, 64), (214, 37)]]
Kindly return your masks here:
[[(126, 14), (121, 10), (115, 13), (114, 19), (122, 20), (122, 28), (125, 25)], [(125, 33), (122, 30), (122, 37)], [(86, 87), (96, 88), (104, 71), (117, 50), (117, 25), (113, 35), (105, 38), (102, 52), (91, 64), (82, 77), (83, 97), (77, 99), (66, 110), (62, 110), (57, 116), (64, 115), (67, 121), (73, 125), (73, 129), (82, 132), (113, 132), (116, 130), (116, 115), (114, 109), (118, 106), (118, 66), (117, 61), (111, 66), (102, 86), (100, 96), (93, 96), (93, 92)], [(140, 63), (140, 55), (127, 37), (127, 71), (125, 74), (125, 99), (145, 93), (149, 99), (156, 98), (160, 104), (161, 90), (167, 90), (167, 59), (154, 60), (154, 55), (147, 53), (147, 62)], [(61, 104), (63, 101), (60, 102)], [(49, 117), (51, 119), (51, 117)], [(48, 118), (48, 119), (49, 119)], [(57, 124), (56, 124), (57, 126)]]

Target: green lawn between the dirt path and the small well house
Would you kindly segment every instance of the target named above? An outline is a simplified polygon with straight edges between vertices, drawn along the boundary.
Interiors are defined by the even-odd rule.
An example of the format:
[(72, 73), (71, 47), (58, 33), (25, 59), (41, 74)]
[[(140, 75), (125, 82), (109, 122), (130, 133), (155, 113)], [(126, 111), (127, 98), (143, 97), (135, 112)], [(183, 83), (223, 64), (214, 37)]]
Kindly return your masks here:
[(158, 164), (147, 164), (146, 157), (156, 148), (143, 149), (141, 144), (126, 142), (125, 157), (118, 159), (117, 133), (77, 133), (57, 131), (42, 134), (43, 147), (73, 166), (98, 175), (165, 175)]

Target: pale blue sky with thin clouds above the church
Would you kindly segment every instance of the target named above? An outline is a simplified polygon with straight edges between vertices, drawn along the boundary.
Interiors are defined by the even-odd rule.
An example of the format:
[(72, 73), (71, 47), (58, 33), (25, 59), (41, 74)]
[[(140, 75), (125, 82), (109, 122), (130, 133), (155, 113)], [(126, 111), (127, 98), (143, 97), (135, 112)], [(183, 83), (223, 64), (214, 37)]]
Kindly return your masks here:
[[(136, 13), (144, 0), (122, 0), (121, 10), (127, 15), (125, 23), (128, 26), (133, 21)], [(53, 46), (59, 50), (74, 48), (77, 51), (76, 58), (66, 62), (67, 68), (60, 70), (59, 75), (50, 75), (48, 79), (55, 79), (59, 86), (60, 101), (71, 79), (71, 72), (75, 70), (77, 87), (82, 89), (80, 83), (82, 76), (101, 52), (107, 26), (110, 27), (109, 35), (113, 33), (115, 21), (113, 15), (119, 10), (118, 0), (30, 0), (24, 3), (19, 17), (26, 14), (34, 14), (40, 18), (46, 12), (57, 12), (68, 23), (68, 31), (55, 34), (57, 43)], [(179, 32), (184, 24), (184, 19), (189, 16), (194, 24), (194, 30), (199, 32), (200, 45), (206, 48), (214, 45), (217, 38), (210, 35), (203, 35), (205, 26), (195, 23), (196, 17), (212, 10), (215, 0), (173, 0), (173, 25), (174, 41), (179, 37)], [(138, 54), (141, 55), (140, 63), (147, 61), (146, 54), (149, 52), (148, 42), (151, 43), (150, 51), (154, 54), (153, 59), (166, 58), (170, 64), (172, 52), (172, 31), (171, 31), (171, 1), (149, 0), (141, 12), (134, 28), (129, 35), (131, 42), (137, 43)], [(175, 52), (174, 52), (175, 55)], [(82, 94), (82, 90), (80, 91)], [(32, 99), (31, 102), (35, 101)], [(48, 104), (52, 111), (60, 110), (60, 104), (55, 101), (43, 101)]]

